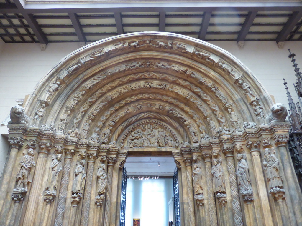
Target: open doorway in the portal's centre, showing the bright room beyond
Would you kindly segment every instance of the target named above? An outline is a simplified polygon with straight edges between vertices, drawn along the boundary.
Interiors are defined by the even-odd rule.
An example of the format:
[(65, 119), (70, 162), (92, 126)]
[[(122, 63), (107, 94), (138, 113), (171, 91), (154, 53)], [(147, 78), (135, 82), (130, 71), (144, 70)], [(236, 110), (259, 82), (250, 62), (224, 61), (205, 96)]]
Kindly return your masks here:
[(176, 165), (173, 157), (128, 157), (124, 166), (127, 170), (125, 226), (165, 226), (174, 222)]

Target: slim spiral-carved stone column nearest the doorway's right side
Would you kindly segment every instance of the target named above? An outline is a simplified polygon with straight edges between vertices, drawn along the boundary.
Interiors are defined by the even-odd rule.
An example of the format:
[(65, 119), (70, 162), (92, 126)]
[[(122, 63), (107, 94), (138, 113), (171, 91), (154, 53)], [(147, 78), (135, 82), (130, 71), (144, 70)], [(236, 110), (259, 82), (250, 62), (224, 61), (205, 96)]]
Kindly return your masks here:
[(187, 172), (187, 190), (188, 190), (188, 217), (191, 226), (195, 226), (195, 214), (194, 214), (194, 196), (193, 196), (193, 181), (192, 181), (192, 158), (184, 158), (186, 172)]

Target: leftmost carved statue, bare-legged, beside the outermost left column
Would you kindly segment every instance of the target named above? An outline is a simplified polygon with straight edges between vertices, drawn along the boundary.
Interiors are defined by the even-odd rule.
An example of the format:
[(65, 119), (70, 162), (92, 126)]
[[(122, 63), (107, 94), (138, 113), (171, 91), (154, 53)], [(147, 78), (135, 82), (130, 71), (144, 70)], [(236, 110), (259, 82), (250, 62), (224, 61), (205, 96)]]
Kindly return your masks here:
[[(27, 154), (22, 157), (19, 163), (19, 170), (16, 178), (17, 186), (14, 189), (14, 192), (22, 192), (22, 189), (27, 192), (27, 183), (30, 182), (28, 181), (28, 177), (32, 166), (36, 166), (34, 161), (34, 150), (29, 148)], [(21, 183), (23, 184), (23, 188), (20, 188)]]

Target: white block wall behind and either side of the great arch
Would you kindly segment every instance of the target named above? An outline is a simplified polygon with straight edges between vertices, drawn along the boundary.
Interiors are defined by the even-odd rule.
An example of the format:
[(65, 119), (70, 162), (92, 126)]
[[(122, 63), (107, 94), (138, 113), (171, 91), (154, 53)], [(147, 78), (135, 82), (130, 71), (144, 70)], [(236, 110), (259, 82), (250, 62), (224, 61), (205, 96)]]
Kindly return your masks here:
[[(239, 49), (237, 42), (211, 42), (235, 57), (255, 74), (276, 102), (287, 104), (283, 78), (297, 102), (292, 62), (288, 48), (294, 52), (296, 62), (302, 68), (302, 42), (285, 42), (284, 49), (278, 49), (276, 42), (246, 42)], [(37, 82), (64, 56), (79, 48), (79, 43), (49, 43), (46, 51), (40, 50), (39, 43), (3, 43), (0, 40), (0, 122), (16, 105), (16, 99), (24, 99), (31, 93)], [(7, 134), (6, 126), (0, 126), (0, 133)], [(0, 174), (8, 152), (7, 138), (0, 137)]]

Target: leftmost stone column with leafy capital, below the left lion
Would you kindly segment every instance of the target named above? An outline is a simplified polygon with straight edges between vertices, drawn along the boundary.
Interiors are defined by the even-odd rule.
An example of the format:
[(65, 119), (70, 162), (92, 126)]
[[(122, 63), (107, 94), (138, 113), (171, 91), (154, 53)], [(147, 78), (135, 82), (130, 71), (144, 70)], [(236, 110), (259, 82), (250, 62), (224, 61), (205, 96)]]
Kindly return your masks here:
[[(0, 196), (0, 213), (2, 212), (2, 208), (4, 205), (5, 200), (9, 200), (9, 196), (11, 195), (11, 190), (9, 189), (10, 182), (12, 181), (11, 178), (14, 178), (12, 175), (13, 168), (16, 164), (18, 150), (24, 145), (24, 139), (22, 137), (9, 137), (8, 142), (11, 145), (11, 151), (9, 153), (7, 164), (5, 165), (4, 171), (2, 173), (2, 184), (0, 187), (0, 191), (2, 195)], [(13, 181), (15, 181), (13, 179)], [(5, 216), (8, 209), (3, 209), (2, 216)]]

